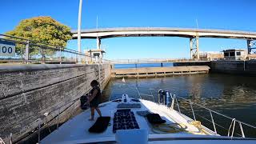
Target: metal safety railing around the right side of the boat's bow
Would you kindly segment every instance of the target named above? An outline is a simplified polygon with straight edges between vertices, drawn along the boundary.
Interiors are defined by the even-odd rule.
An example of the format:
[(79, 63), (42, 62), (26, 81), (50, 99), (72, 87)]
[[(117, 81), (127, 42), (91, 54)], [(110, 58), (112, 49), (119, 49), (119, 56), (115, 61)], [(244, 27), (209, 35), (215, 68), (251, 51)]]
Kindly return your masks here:
[[(128, 88), (129, 90), (133, 89), (133, 91), (127, 90), (130, 93), (128, 95), (130, 95), (131, 97), (133, 97), (134, 94), (137, 93), (137, 98), (142, 98), (146, 100), (149, 100), (148, 98), (150, 99), (152, 98), (151, 100), (152, 102), (155, 102), (155, 99), (158, 99), (159, 104), (164, 104), (170, 109), (178, 111), (180, 114), (186, 115), (185, 113), (190, 113), (191, 114), (190, 118), (194, 121), (203, 120), (204, 122), (208, 122), (207, 127), (211, 125), (210, 127), (213, 127), (213, 130), (211, 131), (213, 131), (214, 134), (228, 136), (230, 138), (233, 138), (234, 135), (236, 134), (238, 137), (246, 138), (246, 134), (244, 131), (246, 129), (244, 129), (244, 126), (248, 127), (248, 129), (250, 128), (250, 129), (256, 130), (256, 126), (252, 126), (246, 122), (239, 121), (235, 118), (230, 118), (225, 114), (218, 113), (215, 110), (210, 110), (206, 106), (202, 106), (198, 104), (198, 102), (192, 102), (190, 99), (178, 97), (175, 94), (170, 94), (170, 102), (165, 102), (166, 97), (163, 97), (162, 101), (159, 100), (159, 90), (149, 89), (146, 87), (130, 86), (128, 84), (126, 84), (126, 86), (124, 87)], [(147, 93), (141, 92), (140, 90), (142, 89), (144, 89), (144, 91), (147, 91)], [(124, 90), (124, 88), (122, 88), (122, 90)], [(113, 91), (110, 94), (109, 101), (113, 100), (112, 94), (113, 94)], [(114, 94), (114, 95), (120, 96), (122, 94)], [(196, 114), (197, 112), (200, 112), (199, 109), (201, 110), (201, 112), (202, 111), (204, 112), (203, 115)], [(219, 119), (221, 120), (223, 119), (222, 122), (218, 122)], [(227, 124), (229, 121), (230, 121), (230, 125)], [(223, 125), (226, 125), (226, 126), (223, 126)], [(226, 128), (227, 125), (229, 126), (229, 128)], [(225, 131), (227, 131), (227, 133)], [(240, 134), (238, 134), (238, 132)], [(254, 135), (254, 137), (255, 136), (256, 135)], [(250, 134), (250, 137), (251, 137), (251, 134)]]

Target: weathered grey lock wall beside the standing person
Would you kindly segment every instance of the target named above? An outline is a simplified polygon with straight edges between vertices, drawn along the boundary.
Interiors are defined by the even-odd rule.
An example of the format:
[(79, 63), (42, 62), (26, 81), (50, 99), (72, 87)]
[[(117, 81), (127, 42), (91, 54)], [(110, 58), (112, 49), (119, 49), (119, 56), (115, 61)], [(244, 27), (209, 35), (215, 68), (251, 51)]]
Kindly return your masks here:
[(17, 141), (37, 130), (39, 122), (56, 123), (58, 114), (58, 121), (65, 121), (89, 92), (90, 82), (96, 79), (104, 88), (110, 74), (108, 64), (1, 66), (0, 138), (7, 142), (12, 133)]

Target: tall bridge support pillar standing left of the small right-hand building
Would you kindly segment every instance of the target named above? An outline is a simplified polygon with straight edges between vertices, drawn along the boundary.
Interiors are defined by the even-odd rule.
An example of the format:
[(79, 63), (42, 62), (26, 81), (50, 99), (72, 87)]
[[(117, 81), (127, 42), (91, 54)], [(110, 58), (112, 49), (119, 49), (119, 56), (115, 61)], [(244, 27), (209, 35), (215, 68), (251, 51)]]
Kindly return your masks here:
[(199, 37), (190, 38), (190, 58), (199, 60)]

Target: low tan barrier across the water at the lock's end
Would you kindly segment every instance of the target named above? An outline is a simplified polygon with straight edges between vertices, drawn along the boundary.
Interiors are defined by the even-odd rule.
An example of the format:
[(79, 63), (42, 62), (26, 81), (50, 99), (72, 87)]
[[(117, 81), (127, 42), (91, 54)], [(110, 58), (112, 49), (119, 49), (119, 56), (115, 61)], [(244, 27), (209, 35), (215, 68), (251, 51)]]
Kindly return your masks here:
[(206, 74), (209, 72), (209, 66), (174, 66), (174, 67), (146, 67), (132, 69), (114, 69), (111, 76), (115, 78), (122, 77), (155, 77), (180, 74)]

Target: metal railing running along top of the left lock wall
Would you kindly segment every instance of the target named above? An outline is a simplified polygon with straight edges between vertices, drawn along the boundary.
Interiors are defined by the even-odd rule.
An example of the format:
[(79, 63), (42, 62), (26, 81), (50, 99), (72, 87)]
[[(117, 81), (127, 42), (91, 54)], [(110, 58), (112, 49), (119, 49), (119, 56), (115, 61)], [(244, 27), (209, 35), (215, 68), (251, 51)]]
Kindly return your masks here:
[[(14, 37), (0, 34), (2, 43), (9, 43), (15, 46), (14, 54), (3, 54), (6, 47), (0, 46), (0, 62), (18, 63), (105, 63), (109, 62), (102, 58), (91, 58), (89, 54), (84, 54), (76, 50), (67, 49), (63, 46), (54, 46), (31, 39)], [(1, 44), (0, 42), (0, 44)], [(7, 48), (8, 50), (8, 48)], [(11, 51), (11, 50), (10, 50)]]

